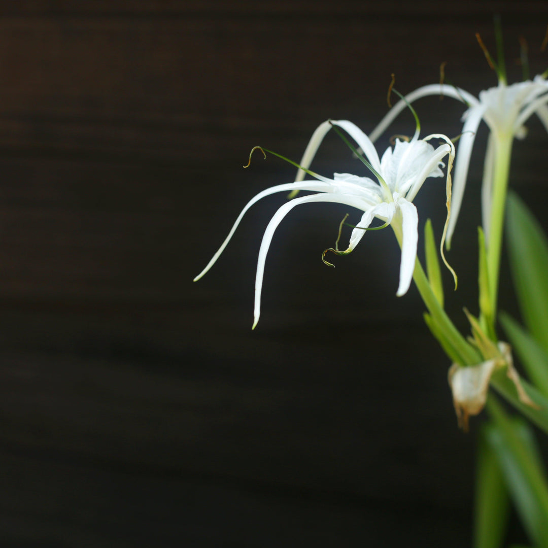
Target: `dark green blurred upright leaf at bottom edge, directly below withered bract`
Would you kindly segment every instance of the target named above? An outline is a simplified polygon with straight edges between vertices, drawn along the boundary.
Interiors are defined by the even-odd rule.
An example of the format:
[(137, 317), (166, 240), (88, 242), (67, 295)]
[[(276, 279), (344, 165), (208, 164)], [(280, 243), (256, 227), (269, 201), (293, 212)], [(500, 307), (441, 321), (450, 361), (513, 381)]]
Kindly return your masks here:
[(499, 460), (488, 443), (492, 424), (479, 434), (476, 467), (474, 548), (500, 548), (503, 544), (509, 511), (509, 494)]

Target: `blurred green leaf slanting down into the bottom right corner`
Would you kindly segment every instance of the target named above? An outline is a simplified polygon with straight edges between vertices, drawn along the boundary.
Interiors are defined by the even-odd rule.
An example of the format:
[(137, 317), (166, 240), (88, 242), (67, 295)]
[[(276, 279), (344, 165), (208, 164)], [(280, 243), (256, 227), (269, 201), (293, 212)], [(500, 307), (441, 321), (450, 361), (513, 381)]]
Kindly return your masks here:
[(527, 426), (516, 426), (492, 395), (487, 408), (496, 426), (487, 431), (487, 441), (499, 459), (523, 527), (535, 544), (548, 546), (548, 483), (536, 449), (524, 441)]

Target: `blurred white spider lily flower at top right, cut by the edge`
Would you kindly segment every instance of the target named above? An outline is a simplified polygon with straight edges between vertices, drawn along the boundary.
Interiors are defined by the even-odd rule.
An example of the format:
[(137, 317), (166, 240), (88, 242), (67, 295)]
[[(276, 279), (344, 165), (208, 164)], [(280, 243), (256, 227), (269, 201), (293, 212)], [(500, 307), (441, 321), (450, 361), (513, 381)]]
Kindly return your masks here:
[[(465, 92), (465, 90), (453, 87), (452, 85), (425, 85), (406, 95), (404, 100), (397, 102), (369, 135), (370, 140), (375, 142), (393, 119), (402, 110), (406, 109), (408, 104), (427, 95), (439, 94), (457, 99), (468, 106), (462, 118), (464, 126), (455, 162), (453, 214), (447, 230), (447, 246), (449, 247), (463, 201), (470, 156), (479, 123), (483, 119), (491, 130), (484, 163), (482, 186), (483, 227), (486, 237), (488, 237), (492, 209), (494, 161), (496, 154), (499, 152), (499, 144), (507, 140), (511, 143), (513, 137), (523, 139), (527, 133), (523, 124), (533, 114), (536, 114), (540, 118), (540, 121), (548, 131), (548, 107), (546, 106), (548, 104), (548, 81), (546, 81), (544, 75), (536, 76), (532, 81), (526, 80), (511, 85), (507, 85), (501, 79), (497, 87), (480, 92), (479, 99)], [(501, 153), (506, 152), (501, 151)]]

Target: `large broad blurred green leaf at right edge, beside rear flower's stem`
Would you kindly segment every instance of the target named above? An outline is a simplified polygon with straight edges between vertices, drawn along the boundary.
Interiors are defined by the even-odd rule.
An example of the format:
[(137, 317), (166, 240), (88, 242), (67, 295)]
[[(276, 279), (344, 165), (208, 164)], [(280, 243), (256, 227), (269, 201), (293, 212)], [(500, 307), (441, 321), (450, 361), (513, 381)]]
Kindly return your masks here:
[(548, 352), (548, 241), (538, 222), (514, 194), (507, 204), (507, 241), (512, 277), (523, 321)]

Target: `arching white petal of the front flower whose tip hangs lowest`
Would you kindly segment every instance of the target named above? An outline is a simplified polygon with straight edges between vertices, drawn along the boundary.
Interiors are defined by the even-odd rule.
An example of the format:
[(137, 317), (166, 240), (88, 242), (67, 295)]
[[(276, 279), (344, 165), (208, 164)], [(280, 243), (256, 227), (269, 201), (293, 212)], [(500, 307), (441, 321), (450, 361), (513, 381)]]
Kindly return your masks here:
[(262, 291), (262, 278), (265, 272), (266, 255), (269, 252), (270, 243), (272, 242), (272, 236), (275, 230), (282, 221), (282, 219), (292, 210), (295, 206), (307, 202), (336, 202), (345, 204), (346, 206), (357, 207), (361, 209), (362, 202), (359, 198), (354, 196), (345, 196), (341, 194), (312, 194), (311, 196), (302, 196), (301, 198), (295, 198), (287, 203), (284, 203), (281, 208), (277, 210), (268, 226), (265, 233), (262, 236), (261, 248), (259, 249), (259, 259), (257, 261), (257, 273), (255, 276), (255, 309), (254, 309), (254, 321), (252, 329), (259, 322), (259, 316), (261, 315), (261, 291)]

